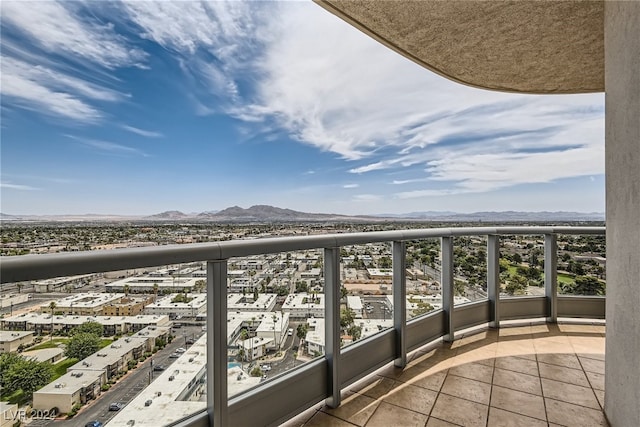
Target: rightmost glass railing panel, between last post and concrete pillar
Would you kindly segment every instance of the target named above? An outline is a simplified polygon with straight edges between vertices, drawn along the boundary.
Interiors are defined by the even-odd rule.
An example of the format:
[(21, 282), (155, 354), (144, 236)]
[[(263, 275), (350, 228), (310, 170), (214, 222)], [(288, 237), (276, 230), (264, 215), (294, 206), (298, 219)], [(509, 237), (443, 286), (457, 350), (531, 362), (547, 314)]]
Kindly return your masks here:
[(558, 294), (606, 295), (604, 235), (558, 235)]

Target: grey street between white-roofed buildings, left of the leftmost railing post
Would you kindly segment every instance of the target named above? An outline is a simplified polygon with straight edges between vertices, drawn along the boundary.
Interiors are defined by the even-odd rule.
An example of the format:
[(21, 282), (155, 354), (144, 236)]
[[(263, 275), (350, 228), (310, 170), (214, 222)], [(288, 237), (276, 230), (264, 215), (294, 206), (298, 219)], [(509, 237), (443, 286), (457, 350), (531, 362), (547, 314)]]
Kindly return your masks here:
[(56, 421), (37, 420), (32, 421), (29, 425), (37, 427), (80, 427), (92, 420), (98, 420), (106, 424), (117, 413), (115, 411), (109, 411), (109, 405), (111, 403), (118, 402), (124, 405), (128, 404), (161, 373), (153, 372), (151, 360), (153, 360), (155, 366), (162, 365), (167, 368), (175, 360), (170, 359), (169, 355), (179, 347), (187, 348), (188, 346), (185, 345), (185, 339), (192, 337), (198, 338), (201, 334), (202, 330), (200, 326), (186, 326), (181, 329), (176, 329), (174, 332), (176, 337), (170, 344), (145, 360), (143, 364), (131, 371), (108, 391), (103, 392), (98, 399), (85, 406), (72, 419)]

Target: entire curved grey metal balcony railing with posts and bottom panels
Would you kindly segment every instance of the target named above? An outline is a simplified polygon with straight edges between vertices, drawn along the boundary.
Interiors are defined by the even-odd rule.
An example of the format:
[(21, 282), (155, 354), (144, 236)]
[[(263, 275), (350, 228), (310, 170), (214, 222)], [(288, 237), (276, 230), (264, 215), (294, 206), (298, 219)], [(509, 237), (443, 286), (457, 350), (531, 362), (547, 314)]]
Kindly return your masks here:
[[(277, 425), (323, 400), (340, 405), (340, 390), (389, 362), (406, 364), (407, 352), (438, 338), (455, 339), (456, 331), (501, 320), (546, 317), (604, 318), (604, 297), (558, 296), (557, 235), (604, 235), (604, 227), (475, 227), (411, 229), (318, 236), (236, 240), (113, 251), (3, 257), (1, 283), (129, 270), (195, 261), (207, 262), (207, 409), (180, 426)], [(545, 295), (501, 298), (501, 235), (544, 236)], [(487, 236), (486, 300), (454, 307), (453, 243), (457, 236)], [(406, 319), (405, 245), (439, 238), (442, 309)], [(391, 242), (393, 254), (393, 328), (340, 348), (340, 248)], [(231, 399), (227, 394), (227, 262), (259, 254), (324, 250), (325, 355)]]

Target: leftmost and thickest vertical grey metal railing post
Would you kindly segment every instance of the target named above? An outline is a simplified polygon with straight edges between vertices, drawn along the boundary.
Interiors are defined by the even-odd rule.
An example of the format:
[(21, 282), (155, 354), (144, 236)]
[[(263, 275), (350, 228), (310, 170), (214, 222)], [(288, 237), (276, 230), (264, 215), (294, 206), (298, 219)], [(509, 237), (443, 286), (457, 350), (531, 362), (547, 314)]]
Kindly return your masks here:
[(229, 425), (227, 260), (207, 262), (207, 411), (210, 425)]

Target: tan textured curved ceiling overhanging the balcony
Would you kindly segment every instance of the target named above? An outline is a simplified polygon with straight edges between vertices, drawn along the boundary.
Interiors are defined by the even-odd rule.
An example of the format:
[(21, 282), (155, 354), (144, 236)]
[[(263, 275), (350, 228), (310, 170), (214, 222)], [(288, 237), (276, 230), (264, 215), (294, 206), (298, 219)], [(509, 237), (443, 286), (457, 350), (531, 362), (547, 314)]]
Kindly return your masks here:
[(463, 84), (525, 93), (604, 91), (602, 0), (316, 1)]

